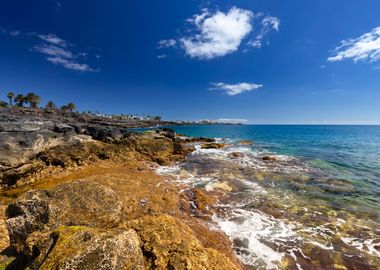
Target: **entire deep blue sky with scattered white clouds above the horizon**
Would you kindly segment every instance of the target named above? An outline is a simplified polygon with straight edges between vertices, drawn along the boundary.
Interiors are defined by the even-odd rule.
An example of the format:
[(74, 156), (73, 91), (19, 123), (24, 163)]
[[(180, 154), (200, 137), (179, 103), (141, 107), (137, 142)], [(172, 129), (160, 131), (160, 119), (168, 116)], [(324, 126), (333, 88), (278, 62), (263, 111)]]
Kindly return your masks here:
[(1, 1), (0, 94), (248, 123), (380, 123), (378, 0)]

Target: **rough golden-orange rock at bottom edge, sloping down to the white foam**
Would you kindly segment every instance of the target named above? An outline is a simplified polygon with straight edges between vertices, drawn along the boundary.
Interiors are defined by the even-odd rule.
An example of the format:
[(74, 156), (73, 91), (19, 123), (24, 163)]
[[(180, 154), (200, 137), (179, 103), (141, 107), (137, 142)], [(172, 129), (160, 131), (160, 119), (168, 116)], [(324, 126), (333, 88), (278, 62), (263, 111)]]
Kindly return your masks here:
[(182, 221), (167, 215), (131, 222), (142, 241), (146, 269), (239, 269), (230, 259), (205, 248)]

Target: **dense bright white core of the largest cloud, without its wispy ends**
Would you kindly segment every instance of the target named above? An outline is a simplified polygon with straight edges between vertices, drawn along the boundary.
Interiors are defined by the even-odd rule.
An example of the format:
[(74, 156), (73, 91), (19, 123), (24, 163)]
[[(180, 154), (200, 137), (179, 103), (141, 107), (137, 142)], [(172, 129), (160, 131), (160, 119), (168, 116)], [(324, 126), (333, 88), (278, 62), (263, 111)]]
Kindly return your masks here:
[(211, 59), (232, 53), (252, 31), (252, 17), (251, 11), (236, 7), (227, 13), (204, 9), (189, 20), (197, 33), (181, 38), (181, 45), (193, 58)]

